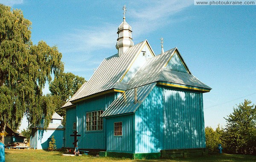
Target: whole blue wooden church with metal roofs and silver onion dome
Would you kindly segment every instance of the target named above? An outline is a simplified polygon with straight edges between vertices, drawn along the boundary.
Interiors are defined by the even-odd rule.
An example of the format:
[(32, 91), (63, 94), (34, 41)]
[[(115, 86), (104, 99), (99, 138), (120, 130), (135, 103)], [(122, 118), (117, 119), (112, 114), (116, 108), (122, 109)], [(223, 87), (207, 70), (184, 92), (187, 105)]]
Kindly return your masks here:
[(160, 158), (204, 154), (203, 93), (173, 48), (155, 55), (148, 41), (134, 45), (131, 26), (119, 25), (118, 53), (102, 61), (63, 109), (65, 147), (98, 150), (101, 156)]

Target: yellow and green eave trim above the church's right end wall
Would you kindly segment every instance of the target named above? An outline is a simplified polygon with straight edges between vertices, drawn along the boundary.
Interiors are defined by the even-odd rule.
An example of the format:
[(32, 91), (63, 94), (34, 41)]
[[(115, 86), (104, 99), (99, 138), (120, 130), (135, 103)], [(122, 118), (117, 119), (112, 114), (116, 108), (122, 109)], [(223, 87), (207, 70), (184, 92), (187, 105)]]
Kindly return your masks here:
[(179, 89), (194, 90), (194, 91), (199, 91), (199, 92), (203, 92), (203, 93), (210, 92), (210, 90), (211, 90), (211, 89), (208, 89), (208, 88), (195, 87), (195, 86), (189, 86), (189, 85), (183, 85), (183, 84), (176, 84), (176, 83), (170, 83), (170, 82), (166, 82), (166, 81), (158, 81), (157, 85), (179, 88)]

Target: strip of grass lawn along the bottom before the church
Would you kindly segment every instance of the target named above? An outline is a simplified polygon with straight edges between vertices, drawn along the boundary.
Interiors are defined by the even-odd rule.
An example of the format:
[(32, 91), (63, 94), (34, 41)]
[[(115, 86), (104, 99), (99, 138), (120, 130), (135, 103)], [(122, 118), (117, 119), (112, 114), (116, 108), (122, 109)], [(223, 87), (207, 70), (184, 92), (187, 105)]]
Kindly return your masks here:
[(256, 162), (256, 156), (248, 155), (208, 155), (201, 157), (158, 160), (131, 160), (93, 156), (62, 156), (60, 152), (44, 150), (5, 150), (6, 162)]

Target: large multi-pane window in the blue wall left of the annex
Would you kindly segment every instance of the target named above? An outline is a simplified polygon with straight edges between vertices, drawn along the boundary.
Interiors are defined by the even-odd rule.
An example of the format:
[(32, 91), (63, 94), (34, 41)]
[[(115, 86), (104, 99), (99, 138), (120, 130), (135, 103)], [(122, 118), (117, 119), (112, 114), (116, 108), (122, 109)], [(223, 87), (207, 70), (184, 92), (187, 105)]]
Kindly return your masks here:
[(97, 131), (103, 129), (103, 119), (100, 117), (103, 110), (86, 113), (86, 131)]

